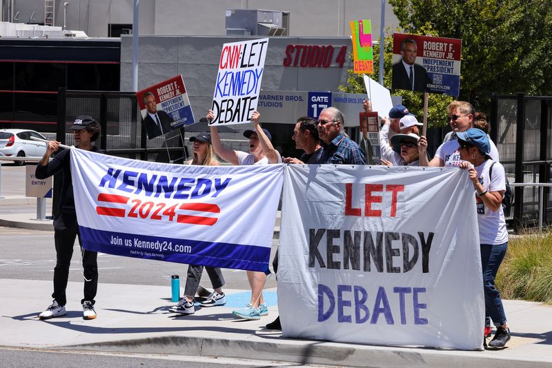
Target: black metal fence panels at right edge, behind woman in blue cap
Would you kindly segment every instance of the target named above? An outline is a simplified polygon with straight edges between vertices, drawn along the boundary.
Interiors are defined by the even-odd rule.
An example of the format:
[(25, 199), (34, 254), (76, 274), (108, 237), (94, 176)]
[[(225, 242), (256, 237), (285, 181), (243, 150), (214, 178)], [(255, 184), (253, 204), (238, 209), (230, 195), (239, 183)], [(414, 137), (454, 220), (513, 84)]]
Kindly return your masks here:
[[(551, 183), (552, 96), (497, 96), (491, 101), (491, 139), (511, 183)], [(516, 232), (540, 221), (552, 223), (552, 191), (544, 188), (539, 212), (540, 189), (516, 185), (513, 214), (506, 218)], [(540, 218), (539, 216), (542, 216)]]

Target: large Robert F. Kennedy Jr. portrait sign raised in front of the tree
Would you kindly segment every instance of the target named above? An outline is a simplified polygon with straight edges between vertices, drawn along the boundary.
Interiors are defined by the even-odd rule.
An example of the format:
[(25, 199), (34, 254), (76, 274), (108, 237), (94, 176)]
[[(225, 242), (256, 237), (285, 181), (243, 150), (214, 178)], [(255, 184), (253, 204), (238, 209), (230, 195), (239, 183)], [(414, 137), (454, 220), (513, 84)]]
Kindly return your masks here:
[(392, 88), (458, 96), (461, 57), (461, 39), (395, 33)]

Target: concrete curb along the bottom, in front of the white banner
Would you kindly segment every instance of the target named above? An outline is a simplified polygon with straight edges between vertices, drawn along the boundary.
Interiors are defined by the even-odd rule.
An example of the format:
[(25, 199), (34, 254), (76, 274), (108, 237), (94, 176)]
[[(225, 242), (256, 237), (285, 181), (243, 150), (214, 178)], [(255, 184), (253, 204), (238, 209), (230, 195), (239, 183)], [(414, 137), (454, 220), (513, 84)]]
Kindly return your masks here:
[[(259, 338), (272, 341), (256, 341)], [(299, 365), (339, 365), (344, 367), (550, 367), (550, 362), (512, 360), (484, 351), (428, 350), (420, 348), (375, 347), (328, 343), (315, 340), (282, 339), (279, 333), (251, 336), (244, 340), (166, 336), (121, 340), (63, 347), (71, 351), (101, 351), (132, 354), (230, 357), (273, 360)], [(56, 349), (60, 349), (57, 347)], [(482, 355), (485, 354), (485, 355)], [(498, 352), (497, 354), (500, 354)]]

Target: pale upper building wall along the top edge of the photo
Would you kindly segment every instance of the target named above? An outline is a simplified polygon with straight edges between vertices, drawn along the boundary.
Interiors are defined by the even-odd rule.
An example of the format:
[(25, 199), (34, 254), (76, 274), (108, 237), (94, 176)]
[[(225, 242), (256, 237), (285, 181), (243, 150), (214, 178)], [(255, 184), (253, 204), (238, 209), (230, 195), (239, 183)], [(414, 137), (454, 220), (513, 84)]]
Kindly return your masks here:
[[(27, 23), (33, 11), (35, 19), (43, 21), (43, 1), (14, 1), (20, 22)], [(132, 23), (133, 0), (56, 0), (55, 25), (63, 25), (65, 1), (67, 29), (82, 30), (90, 37), (107, 37), (108, 23)], [(380, 34), (380, 0), (140, 0), (139, 33), (221, 36), (226, 34), (227, 9), (288, 11), (289, 35), (295, 37), (348, 36), (348, 22), (355, 19), (371, 19), (372, 33)], [(386, 26), (393, 32), (397, 25), (386, 3)]]

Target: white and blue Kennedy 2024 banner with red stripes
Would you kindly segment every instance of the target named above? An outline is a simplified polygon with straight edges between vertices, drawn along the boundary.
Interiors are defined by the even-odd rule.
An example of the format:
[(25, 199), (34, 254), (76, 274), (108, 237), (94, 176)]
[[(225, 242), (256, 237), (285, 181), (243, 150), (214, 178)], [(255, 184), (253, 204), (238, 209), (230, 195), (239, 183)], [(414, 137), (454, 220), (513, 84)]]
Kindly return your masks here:
[(83, 247), (266, 271), (282, 165), (193, 166), (71, 151)]

